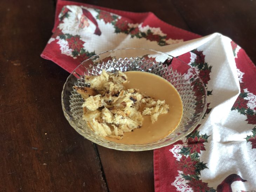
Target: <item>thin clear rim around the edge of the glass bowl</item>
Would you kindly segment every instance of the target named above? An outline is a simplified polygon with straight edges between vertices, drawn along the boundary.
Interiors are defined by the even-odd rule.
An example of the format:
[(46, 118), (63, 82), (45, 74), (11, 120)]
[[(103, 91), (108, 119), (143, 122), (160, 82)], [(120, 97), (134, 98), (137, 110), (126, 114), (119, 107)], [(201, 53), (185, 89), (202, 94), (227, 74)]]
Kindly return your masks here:
[[(181, 61), (182, 63), (188, 65), (188, 63), (186, 63), (186, 62), (182, 61), (181, 59), (179, 59), (178, 56), (174, 57), (174, 56), (169, 55), (169, 54), (167, 54), (167, 53), (159, 52), (159, 51), (156, 51), (156, 50), (153, 50), (153, 49), (144, 49), (144, 48), (122, 48), (122, 49), (108, 50), (108, 51), (104, 51), (104, 52), (102, 52), (102, 53), (93, 55), (93, 56), (89, 57), (88, 59), (82, 61), (82, 62), (72, 71), (72, 73), (70, 73), (70, 75), (67, 77), (67, 80), (66, 80), (66, 82), (64, 83), (63, 88), (62, 88), (62, 91), (61, 91), (61, 105), (62, 105), (62, 110), (63, 110), (64, 116), (65, 116), (65, 118), (67, 119), (68, 123), (72, 126), (73, 129), (75, 129), (76, 132), (78, 132), (78, 129), (79, 129), (79, 128), (75, 128), (75, 127), (74, 127), (74, 126), (75, 126), (75, 123), (73, 123), (74, 126), (70, 123), (70, 120), (69, 120), (68, 117), (67, 117), (68, 115), (67, 115), (67, 113), (66, 113), (66, 109), (64, 108), (65, 105), (64, 105), (64, 101), (63, 101), (64, 89), (65, 89), (66, 83), (68, 82), (69, 77), (72, 76), (73, 73), (76, 73), (75, 70), (78, 69), (83, 63), (87, 62), (88, 60), (91, 60), (93, 57), (97, 57), (97, 56), (99, 56), (99, 55), (101, 55), (101, 54), (104, 54), (104, 53), (107, 53), (107, 52), (114, 52), (114, 51), (128, 50), (128, 49), (153, 51), (153, 52), (156, 52), (156, 53), (165, 54), (165, 55), (168, 55), (168, 56), (170, 56), (170, 57), (173, 57), (173, 58), (175, 58), (175, 59)], [(190, 67), (190, 66), (189, 66), (189, 67)], [(203, 116), (204, 116), (204, 114), (205, 114), (205, 112), (206, 112), (206, 110), (207, 110), (207, 89), (206, 89), (206, 87), (204, 86), (204, 83), (203, 83), (202, 79), (201, 79), (201, 78), (198, 76), (198, 74), (196, 73), (195, 69), (193, 69), (193, 68), (191, 68), (191, 67), (190, 67), (190, 69), (192, 69), (192, 70), (195, 72), (195, 74), (197, 75), (199, 81), (200, 81), (201, 84), (203, 85), (205, 104), (204, 104), (204, 108), (203, 108), (203, 110), (202, 110), (202, 112), (201, 112), (201, 114), (200, 114), (200, 117), (198, 118), (199, 120), (198, 120), (193, 126), (191, 126), (190, 130), (187, 131), (186, 134), (182, 134), (182, 135), (180, 135), (180, 136), (177, 136), (177, 137), (175, 137), (174, 139), (170, 140), (170, 141), (167, 142), (167, 143), (162, 143), (160, 146), (159, 146), (159, 144), (157, 144), (157, 146), (156, 146), (156, 145), (151, 145), (150, 149), (149, 149), (149, 148), (143, 149), (143, 148), (145, 148), (145, 147), (148, 146), (148, 145), (146, 145), (146, 144), (144, 144), (144, 145), (146, 145), (146, 146), (137, 146), (137, 144), (134, 144), (134, 145), (136, 145), (136, 149), (129, 148), (129, 146), (134, 146), (134, 145), (122, 144), (122, 146), (126, 146), (126, 147), (127, 147), (127, 150), (115, 148), (114, 146), (113, 146), (113, 147), (112, 147), (112, 146), (107, 146), (107, 145), (104, 145), (104, 143), (102, 143), (102, 142), (95, 142), (95, 141), (92, 141), (92, 140), (90, 140), (89, 138), (86, 138), (85, 136), (81, 135), (80, 132), (78, 132), (79, 135), (83, 136), (84, 138), (90, 140), (91, 142), (93, 142), (93, 143), (95, 143), (95, 144), (101, 145), (101, 146), (106, 147), (106, 148), (109, 148), (109, 149), (119, 150), (119, 151), (148, 151), (148, 150), (159, 149), (159, 148), (162, 148), (162, 147), (171, 145), (171, 144), (177, 142), (178, 140), (187, 137), (191, 132), (193, 132), (193, 131), (195, 130), (195, 128), (197, 127), (197, 125), (201, 122), (201, 120), (202, 120), (202, 118), (203, 118)], [(118, 144), (119, 144), (119, 143), (118, 143)], [(130, 150), (129, 150), (129, 149), (130, 149)]]

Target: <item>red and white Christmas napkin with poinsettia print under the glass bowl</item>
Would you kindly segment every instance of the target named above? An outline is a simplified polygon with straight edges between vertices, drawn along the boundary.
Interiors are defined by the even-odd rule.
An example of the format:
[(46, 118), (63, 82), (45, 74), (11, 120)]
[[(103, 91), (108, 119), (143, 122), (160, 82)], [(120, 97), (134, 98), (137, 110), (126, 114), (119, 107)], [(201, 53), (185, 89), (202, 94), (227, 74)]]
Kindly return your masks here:
[(90, 56), (128, 47), (178, 56), (197, 71), (208, 92), (196, 130), (154, 150), (155, 191), (256, 190), (256, 68), (228, 37), (201, 37), (153, 13), (59, 0), (53, 35), (41, 56), (72, 72)]

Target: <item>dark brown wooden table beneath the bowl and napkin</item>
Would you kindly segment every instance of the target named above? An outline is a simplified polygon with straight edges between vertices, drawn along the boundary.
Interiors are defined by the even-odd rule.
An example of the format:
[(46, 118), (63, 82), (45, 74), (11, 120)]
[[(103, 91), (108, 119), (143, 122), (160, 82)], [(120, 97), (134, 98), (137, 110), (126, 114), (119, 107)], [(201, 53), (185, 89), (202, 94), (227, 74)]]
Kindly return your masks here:
[[(255, 0), (105, 1), (88, 4), (154, 12), (191, 32), (220, 32), (256, 63)], [(95, 145), (66, 121), (68, 73), (40, 57), (54, 24), (54, 0), (3, 0), (0, 6), (0, 192), (154, 191), (153, 151)]]

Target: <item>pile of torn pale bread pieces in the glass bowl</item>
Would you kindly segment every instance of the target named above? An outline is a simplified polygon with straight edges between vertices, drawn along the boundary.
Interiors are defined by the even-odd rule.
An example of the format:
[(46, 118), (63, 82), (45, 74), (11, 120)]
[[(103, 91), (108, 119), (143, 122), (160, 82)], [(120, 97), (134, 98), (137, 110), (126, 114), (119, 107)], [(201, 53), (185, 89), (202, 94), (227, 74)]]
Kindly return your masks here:
[(142, 126), (143, 115), (150, 115), (152, 123), (161, 114), (169, 111), (165, 101), (156, 100), (138, 92), (125, 89), (127, 76), (121, 71), (109, 73), (105, 70), (99, 76), (85, 76), (89, 87), (74, 88), (85, 100), (83, 120), (103, 137), (122, 139), (124, 132)]

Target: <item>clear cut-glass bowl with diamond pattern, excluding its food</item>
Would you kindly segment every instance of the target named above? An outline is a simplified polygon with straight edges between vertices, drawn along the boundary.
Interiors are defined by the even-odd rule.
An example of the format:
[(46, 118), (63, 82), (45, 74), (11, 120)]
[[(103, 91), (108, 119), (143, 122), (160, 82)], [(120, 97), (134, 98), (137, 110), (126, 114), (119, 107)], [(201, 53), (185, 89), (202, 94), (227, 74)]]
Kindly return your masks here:
[[(177, 128), (167, 137), (147, 144), (120, 144), (96, 135), (82, 120), (83, 98), (73, 86), (87, 87), (84, 75), (100, 75), (103, 69), (112, 72), (147, 71), (173, 84), (183, 104), (183, 116)], [(193, 131), (206, 111), (206, 96), (206, 88), (196, 71), (177, 57), (154, 50), (128, 48), (103, 52), (83, 61), (68, 76), (61, 93), (61, 102), (69, 124), (83, 137), (110, 149), (144, 151), (170, 145)]]

